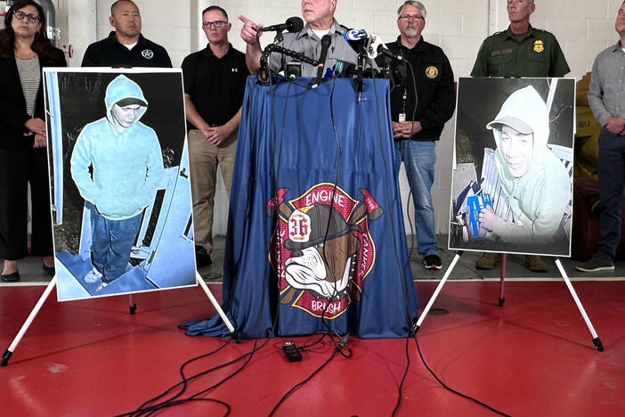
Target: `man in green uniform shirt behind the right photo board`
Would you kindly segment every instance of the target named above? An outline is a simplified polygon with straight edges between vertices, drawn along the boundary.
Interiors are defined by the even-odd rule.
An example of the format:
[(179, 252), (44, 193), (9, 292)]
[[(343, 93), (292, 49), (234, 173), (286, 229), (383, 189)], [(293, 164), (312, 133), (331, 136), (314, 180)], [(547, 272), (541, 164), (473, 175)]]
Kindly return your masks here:
[[(564, 77), (571, 71), (556, 37), (547, 30), (532, 28), (530, 15), (534, 10), (534, 0), (507, 1), (510, 26), (483, 41), (471, 77)], [(539, 256), (528, 255), (525, 260), (530, 270), (547, 271)], [(500, 262), (500, 254), (484, 253), (475, 267), (491, 269)]]

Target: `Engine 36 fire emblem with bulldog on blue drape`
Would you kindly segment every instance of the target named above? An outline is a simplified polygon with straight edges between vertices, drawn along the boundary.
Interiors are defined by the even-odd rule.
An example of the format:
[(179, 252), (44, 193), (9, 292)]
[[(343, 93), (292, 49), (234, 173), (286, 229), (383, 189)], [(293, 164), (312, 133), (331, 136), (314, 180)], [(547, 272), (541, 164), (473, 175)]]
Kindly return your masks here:
[(376, 260), (369, 222), (384, 213), (367, 190), (355, 200), (334, 184), (314, 185), (293, 200), (281, 188), (267, 203), (278, 214), (270, 262), (280, 282), (280, 302), (332, 319), (360, 300)]

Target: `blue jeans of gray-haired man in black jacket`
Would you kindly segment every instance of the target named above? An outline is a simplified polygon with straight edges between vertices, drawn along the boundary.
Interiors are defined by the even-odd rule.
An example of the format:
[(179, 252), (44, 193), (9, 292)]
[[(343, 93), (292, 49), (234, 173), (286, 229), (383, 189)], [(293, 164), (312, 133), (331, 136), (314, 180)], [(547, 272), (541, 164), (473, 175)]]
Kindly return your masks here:
[(399, 174), (403, 160), (412, 193), (412, 202), (415, 205), (417, 250), (424, 257), (438, 255), (436, 218), (430, 194), (432, 184), (434, 184), (435, 149), (434, 141), (395, 142), (395, 176)]

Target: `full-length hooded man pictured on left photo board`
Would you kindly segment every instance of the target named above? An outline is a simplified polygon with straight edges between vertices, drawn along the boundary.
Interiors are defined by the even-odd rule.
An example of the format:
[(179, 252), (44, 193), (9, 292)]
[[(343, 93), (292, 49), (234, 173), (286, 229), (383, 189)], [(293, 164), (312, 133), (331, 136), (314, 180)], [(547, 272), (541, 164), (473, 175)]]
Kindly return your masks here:
[(126, 272), (143, 209), (164, 174), (154, 130), (140, 119), (148, 110), (142, 89), (119, 75), (106, 89), (106, 117), (87, 124), (71, 154), (70, 172), (91, 211), (93, 268), (82, 279), (98, 290)]

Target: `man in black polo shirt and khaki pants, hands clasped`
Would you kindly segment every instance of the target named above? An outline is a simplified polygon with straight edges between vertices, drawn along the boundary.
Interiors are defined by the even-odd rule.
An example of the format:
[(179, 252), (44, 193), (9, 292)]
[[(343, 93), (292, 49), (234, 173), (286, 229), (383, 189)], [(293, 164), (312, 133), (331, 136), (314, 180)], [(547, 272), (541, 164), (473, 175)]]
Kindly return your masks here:
[(248, 67), (245, 54), (228, 42), (231, 24), (219, 6), (202, 12), (205, 49), (183, 61), (193, 232), (198, 266), (211, 263), (217, 167), (230, 197), (234, 155)]

